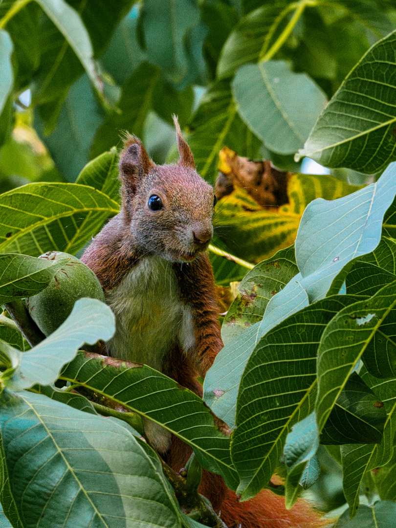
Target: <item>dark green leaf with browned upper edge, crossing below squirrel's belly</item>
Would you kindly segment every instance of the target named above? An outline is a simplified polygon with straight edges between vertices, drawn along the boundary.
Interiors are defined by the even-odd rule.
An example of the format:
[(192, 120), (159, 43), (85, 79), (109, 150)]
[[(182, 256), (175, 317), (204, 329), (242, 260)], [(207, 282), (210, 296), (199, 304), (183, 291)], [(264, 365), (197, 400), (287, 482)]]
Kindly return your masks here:
[(194, 449), (205, 469), (220, 473), (235, 489), (238, 477), (231, 463), (230, 438), (219, 431), (201, 398), (149, 366), (130, 365), (80, 352), (64, 368), (61, 379), (85, 386), (162, 425)]

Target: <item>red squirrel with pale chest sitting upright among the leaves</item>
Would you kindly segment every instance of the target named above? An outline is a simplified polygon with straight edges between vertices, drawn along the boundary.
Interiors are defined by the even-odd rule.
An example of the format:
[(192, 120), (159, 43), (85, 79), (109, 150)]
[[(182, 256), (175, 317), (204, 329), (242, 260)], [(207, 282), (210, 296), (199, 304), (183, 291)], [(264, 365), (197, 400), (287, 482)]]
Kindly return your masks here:
[[(202, 397), (204, 376), (223, 347), (211, 263), (216, 197), (196, 172), (174, 118), (178, 163), (156, 165), (128, 136), (120, 154), (121, 211), (93, 239), (81, 260), (97, 275), (116, 316), (108, 354), (148, 364)], [(150, 444), (179, 471), (191, 448), (144, 420)], [(307, 503), (287, 511), (265, 490), (239, 503), (221, 476), (204, 470), (200, 493), (228, 526), (304, 528), (322, 525)]]

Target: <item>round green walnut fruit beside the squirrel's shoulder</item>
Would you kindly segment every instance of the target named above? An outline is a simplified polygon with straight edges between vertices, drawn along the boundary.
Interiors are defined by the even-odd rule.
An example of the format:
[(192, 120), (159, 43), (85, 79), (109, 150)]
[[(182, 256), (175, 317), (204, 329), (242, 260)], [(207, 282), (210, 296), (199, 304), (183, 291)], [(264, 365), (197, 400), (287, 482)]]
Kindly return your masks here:
[(60, 260), (65, 257), (70, 260), (56, 272), (49, 286), (27, 299), (32, 319), (46, 336), (63, 323), (81, 297), (105, 302), (105, 294), (96, 275), (78, 258), (60, 251), (49, 251), (40, 255), (39, 259)]

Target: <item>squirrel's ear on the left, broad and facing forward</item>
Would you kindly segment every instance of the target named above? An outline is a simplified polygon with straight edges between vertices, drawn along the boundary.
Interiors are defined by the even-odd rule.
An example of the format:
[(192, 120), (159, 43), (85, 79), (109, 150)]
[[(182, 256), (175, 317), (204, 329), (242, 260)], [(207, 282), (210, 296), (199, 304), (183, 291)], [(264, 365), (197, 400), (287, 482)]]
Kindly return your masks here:
[(154, 167), (143, 143), (135, 136), (124, 140), (124, 149), (120, 154), (120, 178), (132, 192), (136, 191), (136, 182)]

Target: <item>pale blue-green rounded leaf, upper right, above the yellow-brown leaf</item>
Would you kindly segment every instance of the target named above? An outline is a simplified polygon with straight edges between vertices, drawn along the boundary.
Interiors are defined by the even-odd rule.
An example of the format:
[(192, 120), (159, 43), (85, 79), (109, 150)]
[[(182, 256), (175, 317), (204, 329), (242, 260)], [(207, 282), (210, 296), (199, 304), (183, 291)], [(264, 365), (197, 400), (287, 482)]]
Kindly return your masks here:
[(304, 145), (326, 104), (324, 92), (285, 61), (242, 66), (232, 82), (237, 109), (266, 147), (293, 154)]

